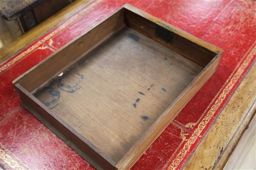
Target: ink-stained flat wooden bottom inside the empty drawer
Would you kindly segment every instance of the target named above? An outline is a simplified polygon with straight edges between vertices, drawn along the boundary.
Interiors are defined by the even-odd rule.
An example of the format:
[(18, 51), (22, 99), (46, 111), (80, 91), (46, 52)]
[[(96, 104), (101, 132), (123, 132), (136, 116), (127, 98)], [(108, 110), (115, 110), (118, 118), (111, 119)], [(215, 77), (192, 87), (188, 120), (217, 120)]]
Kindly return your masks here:
[(202, 69), (124, 27), (34, 95), (118, 162)]

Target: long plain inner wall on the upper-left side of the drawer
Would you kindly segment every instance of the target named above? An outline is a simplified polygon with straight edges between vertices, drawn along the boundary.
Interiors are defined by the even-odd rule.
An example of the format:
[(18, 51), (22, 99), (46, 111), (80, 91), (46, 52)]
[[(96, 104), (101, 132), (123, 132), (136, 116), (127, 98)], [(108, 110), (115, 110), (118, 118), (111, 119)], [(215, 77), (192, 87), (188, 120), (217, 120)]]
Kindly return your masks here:
[(37, 88), (45, 86), (98, 44), (120, 30), (124, 26), (123, 20), (123, 10), (121, 9), (80, 38), (65, 45), (57, 53), (28, 70), (18, 78), (17, 83), (28, 92), (34, 93)]

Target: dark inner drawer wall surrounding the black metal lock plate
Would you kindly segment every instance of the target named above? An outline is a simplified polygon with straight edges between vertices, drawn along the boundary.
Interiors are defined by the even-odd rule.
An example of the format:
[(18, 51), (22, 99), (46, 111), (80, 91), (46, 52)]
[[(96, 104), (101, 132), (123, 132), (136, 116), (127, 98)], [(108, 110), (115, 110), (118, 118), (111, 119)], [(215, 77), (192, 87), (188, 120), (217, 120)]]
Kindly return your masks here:
[[(187, 38), (180, 36), (175, 33), (175, 30), (168, 25), (165, 25), (169, 30), (174, 32), (172, 43), (168, 43), (167, 41), (158, 38), (155, 36), (156, 25), (162, 24), (160, 20), (155, 20), (155, 22), (150, 21), (147, 18), (142, 17), (141, 15), (135, 13), (137, 9), (134, 11), (130, 11), (125, 9), (125, 23), (130, 28), (144, 34), (145, 36), (154, 39), (156, 42), (168, 47), (171, 50), (181, 54), (184, 57), (189, 58), (193, 62), (205, 67), (216, 55), (216, 53), (190, 41)], [(147, 13), (143, 13), (150, 18), (150, 15)], [(188, 33), (187, 33), (188, 34)]]

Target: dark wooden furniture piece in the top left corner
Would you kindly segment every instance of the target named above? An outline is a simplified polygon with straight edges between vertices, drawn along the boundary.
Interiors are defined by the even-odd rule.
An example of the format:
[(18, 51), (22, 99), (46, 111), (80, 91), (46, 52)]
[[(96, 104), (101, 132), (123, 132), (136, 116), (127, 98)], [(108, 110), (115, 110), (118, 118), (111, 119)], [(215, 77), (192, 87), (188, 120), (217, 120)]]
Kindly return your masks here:
[(1, 1), (0, 14), (6, 20), (18, 19), (26, 32), (60, 11), (74, 0), (7, 0)]

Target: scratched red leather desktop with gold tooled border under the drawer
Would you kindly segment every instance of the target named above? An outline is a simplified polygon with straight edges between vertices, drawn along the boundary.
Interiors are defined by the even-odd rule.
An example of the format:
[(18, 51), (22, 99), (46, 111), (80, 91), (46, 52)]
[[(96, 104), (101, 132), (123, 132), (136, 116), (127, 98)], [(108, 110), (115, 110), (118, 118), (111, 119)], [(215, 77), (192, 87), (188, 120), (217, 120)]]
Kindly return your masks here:
[(255, 61), (256, 3), (220, 1), (94, 1), (0, 68), (0, 166), (3, 169), (93, 170), (20, 105), (12, 81), (125, 2), (224, 50), (216, 73), (132, 168), (181, 169)]

